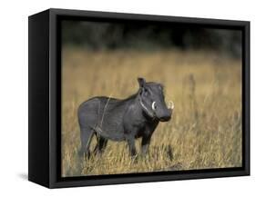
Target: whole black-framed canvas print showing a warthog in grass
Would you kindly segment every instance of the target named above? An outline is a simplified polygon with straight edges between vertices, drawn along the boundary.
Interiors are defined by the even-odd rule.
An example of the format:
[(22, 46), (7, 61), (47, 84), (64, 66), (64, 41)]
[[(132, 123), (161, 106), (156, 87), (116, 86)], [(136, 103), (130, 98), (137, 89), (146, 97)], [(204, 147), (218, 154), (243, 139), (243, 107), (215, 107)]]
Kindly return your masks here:
[(28, 21), (29, 181), (250, 174), (250, 22), (63, 9)]

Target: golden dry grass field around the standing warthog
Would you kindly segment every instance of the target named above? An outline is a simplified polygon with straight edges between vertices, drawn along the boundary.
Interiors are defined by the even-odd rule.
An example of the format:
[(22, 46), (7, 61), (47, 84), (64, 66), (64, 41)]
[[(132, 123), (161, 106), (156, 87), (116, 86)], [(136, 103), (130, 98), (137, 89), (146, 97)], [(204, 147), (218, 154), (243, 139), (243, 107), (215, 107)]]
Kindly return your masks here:
[[(210, 52), (79, 48), (65, 48), (62, 61), (63, 176), (241, 166), (241, 61)], [(127, 143), (109, 141), (101, 157), (80, 159), (78, 105), (97, 95), (126, 98), (138, 91), (138, 76), (164, 84), (166, 100), (175, 103), (147, 157), (133, 163)]]

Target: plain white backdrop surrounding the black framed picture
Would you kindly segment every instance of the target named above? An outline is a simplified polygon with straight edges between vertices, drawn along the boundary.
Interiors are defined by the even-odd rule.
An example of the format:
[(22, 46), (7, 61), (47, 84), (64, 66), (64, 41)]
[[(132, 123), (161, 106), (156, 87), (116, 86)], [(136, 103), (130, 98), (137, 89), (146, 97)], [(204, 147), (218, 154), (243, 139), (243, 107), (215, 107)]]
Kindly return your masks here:
[[(27, 16), (49, 7), (126, 13), (178, 15), (251, 21), (251, 101), (255, 69), (255, 5), (250, 1), (4, 1), (0, 3), (0, 195), (26, 196), (242, 196), (255, 192), (255, 102), (251, 103), (251, 177), (154, 182), (46, 190), (27, 174)], [(254, 76), (254, 77), (253, 77)], [(254, 122), (253, 122), (254, 121)], [(254, 155), (253, 155), (254, 153)], [(253, 188), (254, 187), (254, 188)], [(4, 194), (5, 193), (5, 194)]]

